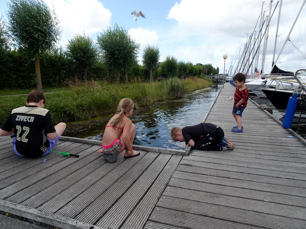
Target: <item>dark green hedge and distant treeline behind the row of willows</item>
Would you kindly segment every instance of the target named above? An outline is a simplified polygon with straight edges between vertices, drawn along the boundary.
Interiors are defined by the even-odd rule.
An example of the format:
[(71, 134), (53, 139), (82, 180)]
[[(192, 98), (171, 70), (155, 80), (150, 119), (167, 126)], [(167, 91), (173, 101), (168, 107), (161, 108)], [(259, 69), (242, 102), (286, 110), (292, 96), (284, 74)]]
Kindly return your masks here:
[[(4, 55), (0, 56), (0, 89), (24, 89), (36, 86), (35, 65), (34, 60), (28, 60), (21, 51), (7, 50)], [(157, 70), (153, 71), (153, 79), (160, 75), (168, 78), (164, 62), (159, 62)], [(195, 64), (187, 62), (188, 71), (183, 76), (201, 76), (204, 74), (205, 68), (208, 72), (215, 74), (215, 68), (211, 64)], [(177, 64), (179, 67), (179, 63)], [(62, 47), (52, 49), (40, 55), (40, 69), (42, 84), (44, 87), (62, 86), (65, 81), (72, 78), (82, 78), (83, 69), (77, 66), (74, 61), (68, 58), (67, 53)], [(124, 82), (125, 72), (120, 71), (120, 81)], [(150, 72), (146, 67), (136, 64), (128, 68), (129, 82), (147, 82)], [(211, 74), (207, 74), (211, 75)], [(110, 72), (102, 61), (96, 61), (90, 69), (88, 69), (88, 80), (102, 80), (109, 83), (116, 82), (116, 72)], [(178, 76), (174, 71), (173, 76)]]

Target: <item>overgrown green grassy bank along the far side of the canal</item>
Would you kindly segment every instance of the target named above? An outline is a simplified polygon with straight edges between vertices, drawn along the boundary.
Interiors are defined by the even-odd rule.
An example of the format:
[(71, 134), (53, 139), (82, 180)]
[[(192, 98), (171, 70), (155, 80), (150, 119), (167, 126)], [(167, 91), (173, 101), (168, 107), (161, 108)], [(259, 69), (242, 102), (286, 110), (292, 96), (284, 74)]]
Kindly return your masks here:
[[(181, 98), (186, 92), (213, 85), (209, 79), (187, 78), (180, 81), (171, 78), (162, 82), (136, 84), (105, 84), (103, 82), (68, 82), (69, 90), (45, 94), (46, 106), (55, 123), (81, 121), (105, 113), (116, 112), (122, 98), (129, 97), (135, 108), (148, 106), (158, 101)], [(12, 109), (25, 105), (25, 95), (0, 97), (1, 125)]]

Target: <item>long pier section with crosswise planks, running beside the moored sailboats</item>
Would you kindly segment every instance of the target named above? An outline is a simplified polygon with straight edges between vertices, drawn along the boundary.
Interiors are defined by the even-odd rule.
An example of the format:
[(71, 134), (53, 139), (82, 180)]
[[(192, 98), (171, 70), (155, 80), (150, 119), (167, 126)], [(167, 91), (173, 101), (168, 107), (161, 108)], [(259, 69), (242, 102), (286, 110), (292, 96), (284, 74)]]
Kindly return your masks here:
[(231, 132), (233, 93), (225, 85), (203, 122), (235, 149), (184, 156), (144, 228), (306, 228), (304, 143), (251, 101)]

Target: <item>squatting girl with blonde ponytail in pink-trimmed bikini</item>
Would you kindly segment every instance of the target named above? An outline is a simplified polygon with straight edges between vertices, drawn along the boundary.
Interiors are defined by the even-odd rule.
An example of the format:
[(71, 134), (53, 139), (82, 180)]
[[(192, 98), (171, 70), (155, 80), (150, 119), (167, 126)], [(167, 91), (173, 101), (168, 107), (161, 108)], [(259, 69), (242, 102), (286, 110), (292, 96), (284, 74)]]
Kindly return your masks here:
[(102, 138), (102, 149), (97, 150), (104, 154), (119, 154), (125, 149), (124, 157), (136, 157), (140, 153), (133, 150), (136, 126), (129, 117), (133, 114), (134, 103), (129, 98), (120, 100), (117, 114), (110, 118)]

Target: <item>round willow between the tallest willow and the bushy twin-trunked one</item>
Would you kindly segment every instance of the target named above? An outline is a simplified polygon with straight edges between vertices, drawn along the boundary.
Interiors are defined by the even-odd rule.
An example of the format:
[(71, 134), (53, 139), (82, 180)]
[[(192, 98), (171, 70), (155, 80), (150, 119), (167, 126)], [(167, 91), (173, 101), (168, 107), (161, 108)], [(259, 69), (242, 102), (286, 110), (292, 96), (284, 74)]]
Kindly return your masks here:
[(76, 34), (72, 39), (68, 40), (67, 53), (77, 65), (83, 68), (83, 77), (87, 81), (87, 70), (91, 67), (98, 57), (96, 44), (89, 35)]

